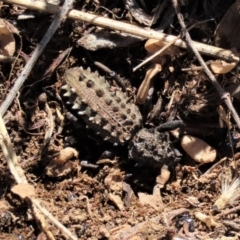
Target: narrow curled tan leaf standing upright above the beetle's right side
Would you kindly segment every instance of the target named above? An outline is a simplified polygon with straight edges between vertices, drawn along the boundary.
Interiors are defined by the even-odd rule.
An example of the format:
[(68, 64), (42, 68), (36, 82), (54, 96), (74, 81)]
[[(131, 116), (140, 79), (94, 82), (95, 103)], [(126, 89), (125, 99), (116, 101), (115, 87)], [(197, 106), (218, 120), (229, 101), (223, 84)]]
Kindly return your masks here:
[(151, 87), (153, 77), (156, 76), (160, 71), (162, 71), (162, 65), (159, 63), (153, 63), (146, 72), (145, 78), (142, 81), (138, 92), (136, 103), (144, 104), (148, 96), (148, 91)]

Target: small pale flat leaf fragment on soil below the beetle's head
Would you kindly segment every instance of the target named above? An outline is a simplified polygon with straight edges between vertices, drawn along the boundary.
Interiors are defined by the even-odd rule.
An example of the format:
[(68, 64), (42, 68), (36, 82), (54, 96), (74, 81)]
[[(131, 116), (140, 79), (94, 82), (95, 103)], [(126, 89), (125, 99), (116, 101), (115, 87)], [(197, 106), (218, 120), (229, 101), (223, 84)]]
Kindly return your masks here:
[(149, 195), (146, 193), (138, 193), (139, 201), (142, 205), (151, 206), (155, 210), (163, 208), (162, 199), (157, 195)]

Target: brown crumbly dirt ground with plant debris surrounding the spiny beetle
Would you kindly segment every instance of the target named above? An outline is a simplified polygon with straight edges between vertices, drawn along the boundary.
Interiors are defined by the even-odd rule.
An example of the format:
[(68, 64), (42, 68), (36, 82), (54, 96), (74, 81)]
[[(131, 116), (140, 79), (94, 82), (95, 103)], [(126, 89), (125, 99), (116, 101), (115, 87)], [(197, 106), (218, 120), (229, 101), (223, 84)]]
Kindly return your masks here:
[[(138, 8), (128, 5), (130, 2), (134, 1), (76, 1), (74, 9), (142, 28), (150, 26), (174, 36), (181, 33), (171, 1), (139, 0)], [(193, 26), (189, 31), (192, 39), (231, 49), (238, 56), (240, 41), (236, 28), (240, 15), (228, 12), (234, 2), (179, 1), (186, 26)], [(157, 17), (156, 9), (160, 9)], [(134, 12), (140, 12), (140, 17)], [(21, 16), (25, 17), (20, 19)], [(156, 21), (152, 22), (152, 16)], [(228, 17), (235, 17), (236, 24), (230, 29), (224, 25)], [(1, 63), (1, 103), (53, 18), (26, 7), (2, 5), (1, 19), (15, 28), (10, 32), (17, 60)], [(103, 32), (109, 40), (104, 47), (97, 47), (97, 40), (88, 39), (91, 34), (100, 38)], [(149, 40), (123, 39), (120, 35), (66, 19), (4, 115), (18, 162), (33, 186), (35, 198), (77, 239), (239, 239), (239, 129), (228, 108), (189, 48), (171, 46), (164, 56), (133, 72), (156, 51), (156, 45), (152, 50), (146, 46)], [(207, 63), (219, 60), (202, 56)], [(161, 70), (146, 79), (146, 72), (152, 71), (153, 65)], [(80, 66), (98, 71), (111, 88), (125, 90), (129, 102), (138, 105), (144, 127), (181, 120), (184, 128), (179, 137), (177, 127), (168, 131), (176, 159), (157, 166), (130, 159), (128, 144), (113, 146), (86, 128), (61, 90), (65, 71)], [(239, 113), (238, 67), (224, 73), (212, 71), (220, 86), (232, 93)], [(140, 86), (145, 90), (140, 92)], [(197, 150), (192, 151), (196, 146), (186, 150), (183, 136), (197, 137), (197, 144), (202, 143), (198, 138), (204, 141), (204, 146), (216, 154), (214, 159), (209, 160), (208, 153), (206, 159), (194, 160)], [(70, 239), (44, 214), (41, 217), (46, 219), (47, 226), (36, 221), (33, 208), (19, 197), (15, 185), (0, 151), (0, 239), (51, 239), (46, 231), (55, 239)], [(32, 194), (29, 189), (20, 191)]]

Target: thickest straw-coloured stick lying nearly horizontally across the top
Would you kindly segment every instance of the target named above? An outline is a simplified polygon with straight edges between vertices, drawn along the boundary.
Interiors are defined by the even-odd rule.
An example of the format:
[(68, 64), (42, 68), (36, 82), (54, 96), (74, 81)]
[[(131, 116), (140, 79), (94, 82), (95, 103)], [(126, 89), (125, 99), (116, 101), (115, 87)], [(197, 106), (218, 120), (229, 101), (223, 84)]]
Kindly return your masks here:
[[(47, 4), (45, 2), (40, 2), (40, 1), (33, 2), (32, 0), (3, 0), (3, 2), (9, 3), (9, 4), (17, 4), (29, 9), (48, 12), (52, 14), (58, 12), (59, 10), (59, 8), (56, 5)], [(173, 35), (167, 35), (151, 29), (145, 29), (142, 27), (134, 26), (129, 23), (124, 23), (124, 22), (113, 20), (113, 19), (100, 17), (97, 15), (82, 12), (82, 11), (71, 10), (68, 13), (68, 17), (71, 19), (95, 24), (103, 28), (110, 28), (115, 31), (121, 31), (123, 33), (128, 33), (131, 35), (135, 35), (135, 36), (139, 36), (147, 39), (150, 39), (150, 38), (159, 39), (167, 43), (172, 42), (173, 40), (176, 39), (176, 36), (173, 36)], [(174, 45), (181, 48), (185, 48), (185, 49), (188, 48), (188, 44), (181, 39), (177, 39)], [(210, 46), (210, 45), (198, 43), (198, 42), (194, 42), (194, 45), (197, 48), (197, 50), (202, 54), (206, 54), (215, 58), (222, 58), (226, 61), (239, 61), (239, 57), (235, 56), (234, 53), (230, 50), (225, 50), (222, 48), (218, 48), (218, 47), (214, 47), (214, 46)]]

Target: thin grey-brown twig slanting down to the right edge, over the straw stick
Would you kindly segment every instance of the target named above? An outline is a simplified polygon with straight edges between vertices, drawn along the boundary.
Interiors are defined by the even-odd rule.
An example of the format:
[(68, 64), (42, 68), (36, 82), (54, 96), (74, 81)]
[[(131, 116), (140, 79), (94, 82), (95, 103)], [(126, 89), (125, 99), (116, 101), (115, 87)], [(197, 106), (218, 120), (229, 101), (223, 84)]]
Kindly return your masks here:
[(194, 54), (197, 57), (199, 63), (203, 67), (204, 72), (209, 77), (209, 79), (212, 82), (213, 86), (218, 91), (220, 97), (224, 100), (224, 102), (227, 105), (229, 111), (231, 112), (232, 117), (234, 118), (238, 128), (240, 129), (240, 119), (238, 117), (238, 114), (237, 114), (235, 108), (232, 105), (230, 94), (228, 92), (225, 92), (224, 89), (221, 88), (221, 86), (219, 85), (218, 81), (216, 80), (216, 78), (214, 77), (212, 72), (207, 67), (207, 64), (204, 62), (203, 58), (199, 54), (199, 51), (196, 48), (195, 43), (192, 41), (192, 39), (191, 39), (191, 37), (190, 37), (190, 35), (189, 35), (188, 31), (187, 31), (186, 25), (185, 25), (184, 20), (183, 20), (183, 16), (182, 16), (182, 14), (180, 13), (180, 10), (179, 10), (179, 6), (178, 6), (177, 0), (172, 0), (172, 4), (173, 4), (173, 7), (175, 8), (175, 11), (177, 13), (178, 21), (179, 21), (180, 26), (182, 27), (182, 31), (183, 31), (183, 33), (185, 35), (186, 42), (188, 43), (189, 47), (194, 52)]

